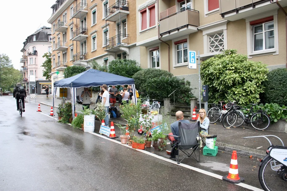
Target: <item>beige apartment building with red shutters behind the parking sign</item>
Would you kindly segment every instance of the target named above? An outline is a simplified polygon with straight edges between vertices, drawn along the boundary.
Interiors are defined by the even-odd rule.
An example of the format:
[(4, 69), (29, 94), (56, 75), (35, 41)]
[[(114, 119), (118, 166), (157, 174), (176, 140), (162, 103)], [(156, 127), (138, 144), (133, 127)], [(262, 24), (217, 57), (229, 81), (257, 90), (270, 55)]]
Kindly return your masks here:
[[(278, 3), (287, 10), (286, 0)], [(286, 15), (275, 0), (136, 0), (136, 6), (143, 68), (170, 71), (198, 88), (188, 50), (200, 51), (203, 61), (236, 49), (271, 69), (286, 67)]]

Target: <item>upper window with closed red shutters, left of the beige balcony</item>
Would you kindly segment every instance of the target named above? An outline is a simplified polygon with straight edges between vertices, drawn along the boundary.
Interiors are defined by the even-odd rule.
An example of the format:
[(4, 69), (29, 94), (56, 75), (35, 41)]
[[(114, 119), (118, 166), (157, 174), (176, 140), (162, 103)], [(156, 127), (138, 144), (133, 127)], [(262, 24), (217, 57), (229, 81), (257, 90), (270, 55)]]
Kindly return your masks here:
[(140, 12), (140, 27), (141, 30), (156, 26), (156, 6), (152, 4), (144, 8)]

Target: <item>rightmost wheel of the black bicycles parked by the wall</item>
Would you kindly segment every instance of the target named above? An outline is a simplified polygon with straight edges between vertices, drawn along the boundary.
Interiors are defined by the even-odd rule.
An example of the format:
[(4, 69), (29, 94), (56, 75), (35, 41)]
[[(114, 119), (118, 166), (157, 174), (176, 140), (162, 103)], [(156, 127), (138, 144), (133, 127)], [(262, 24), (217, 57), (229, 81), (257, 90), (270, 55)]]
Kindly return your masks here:
[(252, 127), (263, 130), (268, 128), (270, 125), (270, 117), (266, 113), (256, 112), (253, 116), (250, 118), (250, 122)]

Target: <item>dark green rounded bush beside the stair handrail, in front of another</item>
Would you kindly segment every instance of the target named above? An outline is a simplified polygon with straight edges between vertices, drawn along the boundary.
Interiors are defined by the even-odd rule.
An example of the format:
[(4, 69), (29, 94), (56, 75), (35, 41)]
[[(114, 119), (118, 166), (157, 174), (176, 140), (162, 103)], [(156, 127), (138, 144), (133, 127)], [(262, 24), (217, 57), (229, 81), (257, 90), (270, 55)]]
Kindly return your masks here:
[[(145, 94), (157, 100), (168, 98), (174, 90), (177, 90), (174, 94), (177, 103), (190, 103), (190, 98), (194, 97), (191, 93), (190, 82), (176, 76), (148, 79), (143, 87)], [(173, 102), (173, 96), (170, 96), (170, 99)]]

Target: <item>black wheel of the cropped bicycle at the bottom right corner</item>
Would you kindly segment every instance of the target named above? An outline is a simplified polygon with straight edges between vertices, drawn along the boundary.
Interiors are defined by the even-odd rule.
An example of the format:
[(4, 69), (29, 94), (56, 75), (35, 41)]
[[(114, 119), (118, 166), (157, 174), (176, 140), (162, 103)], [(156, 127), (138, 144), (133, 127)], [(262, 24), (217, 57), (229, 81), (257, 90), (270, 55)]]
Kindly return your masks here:
[(287, 168), (271, 156), (259, 167), (258, 177), (265, 191), (287, 190)]

